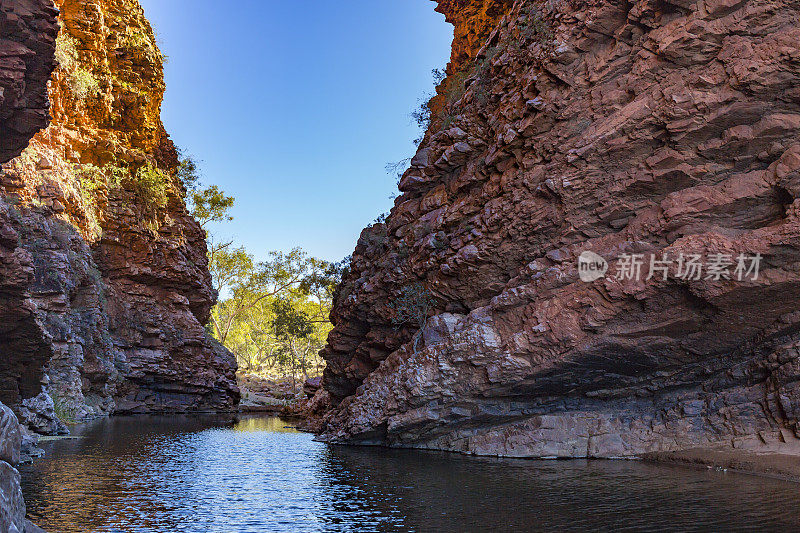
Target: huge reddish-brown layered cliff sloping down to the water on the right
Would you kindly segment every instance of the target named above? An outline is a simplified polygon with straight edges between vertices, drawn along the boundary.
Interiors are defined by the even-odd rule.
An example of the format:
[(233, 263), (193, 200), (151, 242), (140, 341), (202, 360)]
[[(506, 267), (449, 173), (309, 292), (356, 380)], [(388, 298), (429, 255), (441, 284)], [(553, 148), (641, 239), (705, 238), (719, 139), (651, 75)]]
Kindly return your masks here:
[[(448, 14), (456, 83), (336, 299), (323, 438), (539, 457), (798, 438), (800, 5), (439, 6), (471, 14)], [(581, 281), (586, 250), (605, 276)], [(631, 254), (641, 277), (617, 279)], [(681, 254), (762, 259), (691, 279)], [(437, 303), (415, 352), (392, 303), (418, 282)]]

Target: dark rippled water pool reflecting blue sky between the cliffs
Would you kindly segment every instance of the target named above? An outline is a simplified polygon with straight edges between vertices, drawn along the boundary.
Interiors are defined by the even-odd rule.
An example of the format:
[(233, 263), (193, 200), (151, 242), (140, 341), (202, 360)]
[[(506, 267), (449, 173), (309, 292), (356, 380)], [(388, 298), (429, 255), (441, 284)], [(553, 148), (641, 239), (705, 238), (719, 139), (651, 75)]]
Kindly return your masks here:
[(49, 533), (798, 531), (800, 485), (636, 461), (332, 447), (277, 418), (117, 418), (22, 468)]

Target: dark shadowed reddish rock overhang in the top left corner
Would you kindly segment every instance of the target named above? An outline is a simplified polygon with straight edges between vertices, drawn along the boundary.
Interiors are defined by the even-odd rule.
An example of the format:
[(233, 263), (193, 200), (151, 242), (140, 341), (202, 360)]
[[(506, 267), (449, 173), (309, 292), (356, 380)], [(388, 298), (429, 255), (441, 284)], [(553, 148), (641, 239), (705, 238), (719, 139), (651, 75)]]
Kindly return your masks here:
[(47, 126), (57, 14), (51, 0), (0, 4), (0, 163)]

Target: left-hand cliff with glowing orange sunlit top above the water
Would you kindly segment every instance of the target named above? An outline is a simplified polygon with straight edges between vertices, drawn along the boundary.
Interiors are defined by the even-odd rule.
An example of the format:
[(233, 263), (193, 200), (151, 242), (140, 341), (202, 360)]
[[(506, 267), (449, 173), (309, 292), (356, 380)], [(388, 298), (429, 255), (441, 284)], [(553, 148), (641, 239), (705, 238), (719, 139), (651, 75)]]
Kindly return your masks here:
[[(9, 70), (16, 92), (0, 102), (2, 131), (19, 133), (3, 137), (8, 156), (47, 116), (53, 62), (37, 62), (39, 41), (57, 63), (50, 125), (0, 172), (0, 401), (43, 432), (61, 429), (56, 412), (233, 408), (235, 360), (203, 327), (216, 294), (159, 118), (164, 58), (152, 28), (135, 0), (57, 0), (57, 40), (55, 24), (7, 34), (34, 4), (47, 2), (0, 11), (3, 38), (34, 52), (10, 48), (28, 68)], [(23, 75), (32, 81), (14, 81)]]

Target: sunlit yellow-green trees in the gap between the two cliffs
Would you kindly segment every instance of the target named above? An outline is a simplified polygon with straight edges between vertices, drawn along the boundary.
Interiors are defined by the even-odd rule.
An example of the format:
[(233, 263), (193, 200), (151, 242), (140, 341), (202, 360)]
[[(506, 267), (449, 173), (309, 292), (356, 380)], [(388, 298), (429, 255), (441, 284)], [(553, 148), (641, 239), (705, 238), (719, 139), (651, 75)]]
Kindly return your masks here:
[[(197, 165), (181, 157), (178, 176), (190, 212), (203, 228), (233, 219), (234, 198), (216, 185), (202, 187)], [(209, 236), (209, 270), (219, 302), (207, 328), (236, 355), (241, 371), (272, 378), (318, 375), (318, 352), (332, 329), (333, 294), (344, 264), (310, 257), (300, 248), (270, 252), (258, 261), (233, 242)]]

